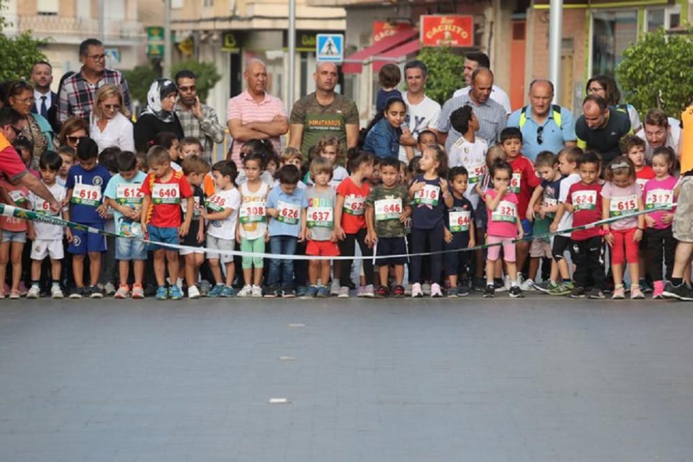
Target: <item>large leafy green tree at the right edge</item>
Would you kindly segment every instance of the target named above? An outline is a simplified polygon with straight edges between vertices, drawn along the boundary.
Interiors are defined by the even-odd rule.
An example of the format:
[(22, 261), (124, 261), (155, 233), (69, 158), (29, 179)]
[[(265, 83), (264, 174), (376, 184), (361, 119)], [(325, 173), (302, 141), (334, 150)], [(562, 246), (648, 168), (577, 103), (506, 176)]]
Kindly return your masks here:
[(680, 35), (663, 28), (644, 34), (622, 54), (616, 77), (640, 114), (659, 108), (678, 118), (693, 97), (693, 27)]

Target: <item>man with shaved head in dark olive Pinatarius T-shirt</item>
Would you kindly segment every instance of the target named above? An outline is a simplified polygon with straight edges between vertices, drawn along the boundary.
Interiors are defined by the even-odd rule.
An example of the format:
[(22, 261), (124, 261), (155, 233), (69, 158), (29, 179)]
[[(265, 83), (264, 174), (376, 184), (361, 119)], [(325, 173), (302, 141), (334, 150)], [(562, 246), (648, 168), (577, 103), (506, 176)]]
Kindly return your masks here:
[(301, 150), (306, 161), (310, 148), (323, 136), (336, 136), (345, 154), (358, 141), (358, 108), (335, 93), (338, 78), (336, 64), (318, 63), (313, 74), (315, 93), (298, 100), (291, 110), (289, 144)]

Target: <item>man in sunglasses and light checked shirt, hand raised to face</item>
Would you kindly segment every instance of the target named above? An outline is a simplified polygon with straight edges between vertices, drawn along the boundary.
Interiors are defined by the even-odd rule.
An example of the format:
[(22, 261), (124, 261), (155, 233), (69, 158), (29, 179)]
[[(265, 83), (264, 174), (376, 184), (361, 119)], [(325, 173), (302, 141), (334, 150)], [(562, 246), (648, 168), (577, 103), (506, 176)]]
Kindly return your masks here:
[(200, 140), (204, 149), (204, 160), (212, 163), (214, 143), (224, 142), (224, 127), (219, 123), (216, 111), (200, 103), (197, 76), (193, 71), (183, 70), (175, 75), (178, 86), (178, 103), (175, 112), (185, 136)]

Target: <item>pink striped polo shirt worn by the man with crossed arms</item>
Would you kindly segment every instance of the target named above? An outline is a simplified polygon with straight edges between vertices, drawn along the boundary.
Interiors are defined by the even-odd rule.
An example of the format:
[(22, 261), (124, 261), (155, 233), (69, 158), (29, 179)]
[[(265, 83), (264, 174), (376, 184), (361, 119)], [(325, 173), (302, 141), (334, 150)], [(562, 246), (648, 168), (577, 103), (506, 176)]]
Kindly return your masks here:
[[(236, 118), (243, 125), (250, 122), (269, 123), (276, 116), (287, 117), (282, 100), (265, 92), (265, 98), (260, 103), (256, 103), (247, 90), (229, 100), (226, 114), (227, 121)], [(272, 136), (270, 141), (272, 141), (274, 150), (279, 153), (281, 150), (279, 136)], [(234, 147), (231, 150), (231, 159), (236, 162), (238, 168), (243, 168), (243, 163), (240, 161), (241, 147), (243, 147), (243, 143), (234, 142)]]

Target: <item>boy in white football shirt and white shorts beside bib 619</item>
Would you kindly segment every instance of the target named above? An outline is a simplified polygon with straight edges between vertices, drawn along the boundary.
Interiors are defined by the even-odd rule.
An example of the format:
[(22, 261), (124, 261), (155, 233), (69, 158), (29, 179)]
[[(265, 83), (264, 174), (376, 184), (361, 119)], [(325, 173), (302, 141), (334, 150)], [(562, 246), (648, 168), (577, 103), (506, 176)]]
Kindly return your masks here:
[[(58, 177), (62, 159), (60, 155), (46, 151), (39, 159), (39, 170), (41, 172), (42, 183), (51, 191), (53, 197), (58, 202), (65, 199), (65, 188), (60, 186), (55, 178)], [(29, 193), (28, 202), (30, 210), (49, 216), (57, 216), (51, 211), (51, 207), (46, 199), (38, 197), (34, 193)], [(62, 211), (63, 220), (69, 220), (67, 207)], [(33, 222), (28, 229), (28, 237), (33, 240), (31, 244), (31, 287), (26, 294), (27, 299), (37, 299), (41, 296), (41, 265), (46, 256), (51, 258), (51, 298), (62, 299), (64, 296), (60, 289), (61, 262), (64, 258), (64, 248), (62, 247), (62, 226), (44, 222)], [(3, 281), (3, 280), (0, 280)]]

